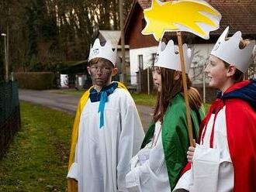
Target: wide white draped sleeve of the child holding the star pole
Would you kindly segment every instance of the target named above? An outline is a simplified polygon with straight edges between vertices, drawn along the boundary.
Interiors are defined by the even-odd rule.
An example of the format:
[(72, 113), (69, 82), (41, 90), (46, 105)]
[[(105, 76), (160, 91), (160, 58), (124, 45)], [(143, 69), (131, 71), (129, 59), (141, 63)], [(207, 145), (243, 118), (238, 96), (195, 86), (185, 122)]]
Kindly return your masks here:
[(232, 191), (234, 171), (229, 153), (196, 146), (192, 168), (178, 180), (174, 191)]

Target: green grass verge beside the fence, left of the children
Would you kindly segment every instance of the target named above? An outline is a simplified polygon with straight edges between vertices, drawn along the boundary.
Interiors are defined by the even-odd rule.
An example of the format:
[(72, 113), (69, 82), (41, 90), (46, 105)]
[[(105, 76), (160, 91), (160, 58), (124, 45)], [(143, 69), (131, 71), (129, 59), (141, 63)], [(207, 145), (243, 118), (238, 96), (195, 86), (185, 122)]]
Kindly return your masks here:
[(0, 191), (67, 191), (73, 115), (21, 102), (22, 129), (0, 160)]

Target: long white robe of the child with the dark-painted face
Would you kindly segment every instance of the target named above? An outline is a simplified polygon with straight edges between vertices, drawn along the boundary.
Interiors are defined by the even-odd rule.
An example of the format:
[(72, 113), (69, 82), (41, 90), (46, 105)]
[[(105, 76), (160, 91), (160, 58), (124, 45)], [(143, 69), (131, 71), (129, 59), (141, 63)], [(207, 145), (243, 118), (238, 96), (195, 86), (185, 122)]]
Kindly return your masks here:
[(99, 101), (88, 98), (81, 112), (78, 142), (67, 177), (78, 180), (79, 192), (126, 191), (130, 159), (139, 150), (144, 131), (130, 94), (121, 89), (109, 95), (104, 125), (99, 128)]

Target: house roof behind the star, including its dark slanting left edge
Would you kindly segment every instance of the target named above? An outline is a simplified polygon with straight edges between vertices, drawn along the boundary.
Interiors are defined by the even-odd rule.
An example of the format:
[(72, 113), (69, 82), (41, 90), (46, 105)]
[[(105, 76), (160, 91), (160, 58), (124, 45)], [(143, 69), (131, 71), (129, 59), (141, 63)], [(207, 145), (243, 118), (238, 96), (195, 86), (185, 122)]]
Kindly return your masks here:
[[(168, 2), (170, 0), (162, 0), (162, 2)], [(141, 9), (150, 8), (152, 0), (133, 0), (133, 5), (130, 9), (130, 13), (127, 16), (124, 31), (127, 38), (130, 36), (130, 30), (133, 28), (133, 18), (136, 17), (136, 13)], [(243, 36), (249, 39), (255, 39), (256, 37), (256, 3), (255, 0), (206, 0), (210, 5), (217, 9), (222, 19), (220, 21), (220, 29), (210, 33), (208, 41), (215, 42), (218, 36), (223, 30), (230, 26), (230, 34), (234, 34), (237, 31), (241, 31)], [(196, 41), (202, 42), (202, 39), (195, 36), (192, 33), (183, 33), (188, 36), (189, 39), (197, 39)], [(165, 36), (175, 36), (175, 33), (166, 33)]]

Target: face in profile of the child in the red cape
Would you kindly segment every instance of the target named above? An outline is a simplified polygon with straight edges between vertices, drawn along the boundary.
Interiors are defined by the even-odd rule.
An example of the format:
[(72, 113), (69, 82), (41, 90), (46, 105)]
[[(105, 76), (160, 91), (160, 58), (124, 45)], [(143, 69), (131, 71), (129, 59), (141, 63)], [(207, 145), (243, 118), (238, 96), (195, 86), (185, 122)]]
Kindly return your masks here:
[(204, 72), (209, 77), (210, 87), (215, 87), (221, 91), (225, 91), (227, 89), (230, 75), (229, 68), (225, 67), (223, 60), (210, 55), (209, 62)]

